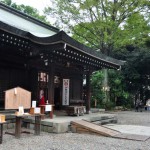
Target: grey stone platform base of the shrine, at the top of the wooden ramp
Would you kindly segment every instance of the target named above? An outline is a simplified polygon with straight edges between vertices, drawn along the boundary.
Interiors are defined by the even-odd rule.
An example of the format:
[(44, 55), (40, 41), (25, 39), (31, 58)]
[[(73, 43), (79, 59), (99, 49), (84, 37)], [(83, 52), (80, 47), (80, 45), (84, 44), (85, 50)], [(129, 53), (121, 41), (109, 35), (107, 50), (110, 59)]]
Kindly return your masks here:
[[(86, 120), (88, 122), (94, 123), (96, 125), (104, 125), (104, 124), (109, 124), (109, 123), (117, 123), (117, 118), (115, 115), (108, 115), (108, 114), (103, 114), (103, 115), (95, 115), (93, 114), (92, 116), (61, 116), (60, 119), (59, 117), (55, 117), (54, 119), (44, 119), (41, 121), (41, 131), (44, 132), (49, 132), (49, 133), (65, 133), (65, 132), (72, 132), (71, 128), (71, 121), (74, 120)], [(24, 123), (27, 128), (33, 129), (34, 128), (34, 120), (28, 118), (24, 120)]]

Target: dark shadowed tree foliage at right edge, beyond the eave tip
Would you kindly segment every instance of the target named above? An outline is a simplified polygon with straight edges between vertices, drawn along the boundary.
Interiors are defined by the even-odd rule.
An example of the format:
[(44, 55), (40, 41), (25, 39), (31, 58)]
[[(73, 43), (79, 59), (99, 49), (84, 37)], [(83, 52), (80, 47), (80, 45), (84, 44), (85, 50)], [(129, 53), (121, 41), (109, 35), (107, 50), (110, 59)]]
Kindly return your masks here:
[(127, 62), (123, 68), (128, 91), (141, 95), (145, 102), (150, 97), (150, 51), (149, 48), (134, 48), (127, 54)]

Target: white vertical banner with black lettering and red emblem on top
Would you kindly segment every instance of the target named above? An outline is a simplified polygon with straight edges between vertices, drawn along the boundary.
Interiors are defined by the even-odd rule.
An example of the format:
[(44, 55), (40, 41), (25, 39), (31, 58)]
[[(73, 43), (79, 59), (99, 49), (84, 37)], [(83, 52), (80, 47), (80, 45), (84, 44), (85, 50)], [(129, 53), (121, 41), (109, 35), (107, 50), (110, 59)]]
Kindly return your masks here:
[(69, 105), (69, 79), (63, 79), (63, 100), (62, 105)]

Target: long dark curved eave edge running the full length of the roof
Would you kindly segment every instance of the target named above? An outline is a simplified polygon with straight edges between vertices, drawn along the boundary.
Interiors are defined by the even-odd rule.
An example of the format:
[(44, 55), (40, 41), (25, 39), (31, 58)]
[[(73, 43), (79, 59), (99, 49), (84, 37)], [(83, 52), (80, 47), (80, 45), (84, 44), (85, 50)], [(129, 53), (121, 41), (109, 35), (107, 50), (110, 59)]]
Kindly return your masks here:
[(105, 62), (108, 62), (110, 64), (113, 64), (115, 66), (121, 66), (124, 64), (124, 62), (108, 57), (104, 54), (100, 54), (93, 49), (81, 44), (80, 42), (74, 40), (70, 36), (68, 36), (64, 31), (60, 31), (55, 35), (49, 36), (49, 37), (37, 37), (33, 35), (32, 33), (20, 30), (16, 27), (10, 26), (6, 23), (3, 23), (0, 21), (0, 29), (4, 30), (6, 32), (9, 32), (11, 34), (20, 36), (22, 38), (28, 39), (32, 41), (33, 43), (39, 44), (39, 45), (52, 45), (52, 44), (57, 44), (57, 43), (66, 43), (68, 46), (83, 52), (87, 55), (90, 55), (98, 60), (102, 60)]

